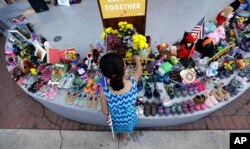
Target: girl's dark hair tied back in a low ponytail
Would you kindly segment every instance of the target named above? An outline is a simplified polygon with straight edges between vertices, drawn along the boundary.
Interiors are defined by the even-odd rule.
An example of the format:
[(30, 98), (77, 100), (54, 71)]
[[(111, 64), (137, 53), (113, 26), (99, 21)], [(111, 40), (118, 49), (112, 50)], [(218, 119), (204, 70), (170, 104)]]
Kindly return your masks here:
[(110, 86), (114, 91), (124, 88), (124, 63), (120, 55), (108, 53), (100, 60), (100, 69), (102, 74), (110, 79)]

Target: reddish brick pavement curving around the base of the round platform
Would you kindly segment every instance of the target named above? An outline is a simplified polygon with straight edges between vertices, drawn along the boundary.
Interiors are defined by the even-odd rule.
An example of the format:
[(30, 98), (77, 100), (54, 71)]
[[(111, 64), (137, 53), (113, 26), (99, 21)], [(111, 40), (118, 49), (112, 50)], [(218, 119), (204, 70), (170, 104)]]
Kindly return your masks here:
[[(0, 35), (0, 128), (107, 131), (108, 127), (82, 124), (58, 116), (33, 100), (11, 80), (4, 59), (5, 38)], [(44, 115), (44, 113), (46, 116)], [(48, 120), (49, 118), (49, 120)], [(52, 123), (51, 123), (52, 122)], [(250, 129), (250, 89), (238, 99), (196, 122), (137, 130)]]

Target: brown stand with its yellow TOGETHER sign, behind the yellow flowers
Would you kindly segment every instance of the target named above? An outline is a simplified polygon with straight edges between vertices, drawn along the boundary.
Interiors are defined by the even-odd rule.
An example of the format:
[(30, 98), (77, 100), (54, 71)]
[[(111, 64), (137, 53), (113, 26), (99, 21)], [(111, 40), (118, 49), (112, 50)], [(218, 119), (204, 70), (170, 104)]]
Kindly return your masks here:
[(118, 28), (118, 23), (127, 21), (137, 32), (145, 35), (147, 0), (97, 0), (103, 27)]

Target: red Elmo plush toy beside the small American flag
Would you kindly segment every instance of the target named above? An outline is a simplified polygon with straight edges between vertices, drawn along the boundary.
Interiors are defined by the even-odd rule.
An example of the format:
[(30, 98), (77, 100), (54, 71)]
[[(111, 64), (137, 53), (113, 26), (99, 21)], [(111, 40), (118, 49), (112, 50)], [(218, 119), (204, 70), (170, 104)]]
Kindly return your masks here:
[(190, 58), (195, 50), (197, 35), (185, 32), (178, 51), (179, 58)]

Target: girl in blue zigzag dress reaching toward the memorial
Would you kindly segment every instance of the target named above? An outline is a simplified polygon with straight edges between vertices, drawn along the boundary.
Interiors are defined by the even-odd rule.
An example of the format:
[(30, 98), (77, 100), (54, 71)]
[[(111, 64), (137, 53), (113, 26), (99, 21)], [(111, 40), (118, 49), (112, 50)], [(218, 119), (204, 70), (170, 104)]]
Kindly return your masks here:
[(136, 71), (129, 79), (124, 77), (125, 64), (120, 55), (108, 53), (101, 58), (100, 69), (110, 80), (100, 93), (102, 112), (111, 113), (114, 132), (125, 139), (137, 124), (135, 102), (138, 96), (137, 82), (142, 74), (139, 56), (134, 56)]

